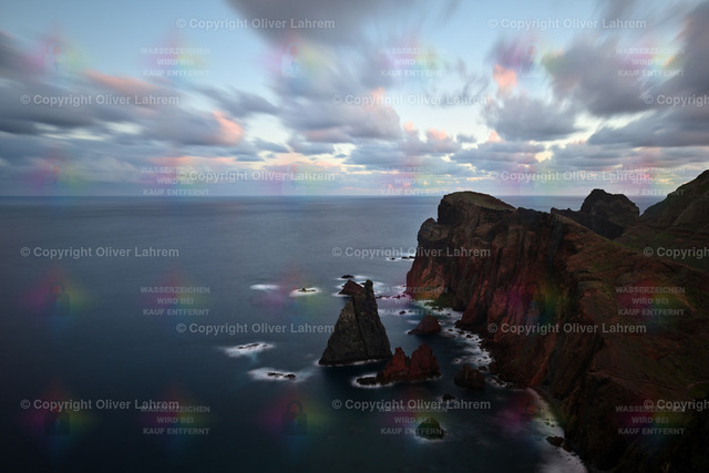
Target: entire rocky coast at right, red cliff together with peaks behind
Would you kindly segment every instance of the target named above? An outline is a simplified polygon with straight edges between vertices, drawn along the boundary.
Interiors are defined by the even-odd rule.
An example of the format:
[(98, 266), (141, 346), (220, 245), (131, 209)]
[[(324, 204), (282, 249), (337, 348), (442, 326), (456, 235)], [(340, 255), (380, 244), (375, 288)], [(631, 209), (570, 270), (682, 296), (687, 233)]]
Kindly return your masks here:
[[(419, 230), (408, 292), (463, 311), (458, 327), (481, 336), (503, 381), (558, 401), (565, 439), (553, 444), (604, 470), (707, 471), (707, 410), (644, 405), (709, 399), (709, 274), (643, 248), (658, 232), (665, 246), (708, 241), (709, 171), (680, 189), (691, 198), (639, 217), (602, 191), (579, 212), (551, 213), (446, 195)], [(657, 307), (671, 312), (648, 312)], [(678, 425), (681, 435), (667, 434)]]

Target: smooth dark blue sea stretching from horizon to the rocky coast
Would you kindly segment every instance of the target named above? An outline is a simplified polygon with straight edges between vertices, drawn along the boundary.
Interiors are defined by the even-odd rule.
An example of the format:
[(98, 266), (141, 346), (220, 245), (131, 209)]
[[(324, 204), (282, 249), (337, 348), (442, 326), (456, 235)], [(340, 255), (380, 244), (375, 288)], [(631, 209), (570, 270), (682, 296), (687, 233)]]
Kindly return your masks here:
[[(501, 198), (546, 212), (583, 202)], [(476, 337), (449, 330), (459, 313), (434, 312), (440, 335), (407, 335), (430, 310), (391, 298), (411, 267), (400, 256), (414, 251), (439, 200), (1, 198), (3, 463), (10, 471), (583, 471), (546, 442), (562, 430), (531, 391), (490, 379), (484, 392), (454, 385), (463, 363), (491, 361)], [(657, 200), (636, 203), (643, 210)], [(440, 379), (366, 389), (353, 380), (382, 363), (317, 364), (329, 337), (317, 330), (335, 325), (347, 274), (373, 280), (383, 296), (392, 350), (410, 356), (425, 341)], [(164, 287), (199, 292), (148, 291)], [(174, 315), (181, 310), (193, 312)], [(444, 393), (469, 404), (434, 409)], [(76, 409), (61, 418), (48, 411), (69, 400)], [(176, 402), (184, 412), (147, 412), (136, 401)], [(377, 401), (410, 412), (364, 404)], [(428, 418), (443, 439), (412, 433)]]

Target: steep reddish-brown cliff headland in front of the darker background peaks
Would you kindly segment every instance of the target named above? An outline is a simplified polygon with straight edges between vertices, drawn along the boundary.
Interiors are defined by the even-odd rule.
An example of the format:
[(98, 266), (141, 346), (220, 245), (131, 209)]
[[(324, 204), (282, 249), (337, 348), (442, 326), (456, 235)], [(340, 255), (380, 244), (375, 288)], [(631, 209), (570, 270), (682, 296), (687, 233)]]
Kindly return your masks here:
[[(562, 400), (567, 441), (594, 465), (680, 469), (668, 445), (681, 436), (647, 451), (641, 435), (619, 433), (617, 407), (707, 394), (706, 273), (466, 192), (421, 226), (407, 286), (463, 310), (459, 327), (485, 339), (504, 378)], [(636, 313), (617, 288), (637, 287), (686, 288), (667, 304), (681, 316)]]

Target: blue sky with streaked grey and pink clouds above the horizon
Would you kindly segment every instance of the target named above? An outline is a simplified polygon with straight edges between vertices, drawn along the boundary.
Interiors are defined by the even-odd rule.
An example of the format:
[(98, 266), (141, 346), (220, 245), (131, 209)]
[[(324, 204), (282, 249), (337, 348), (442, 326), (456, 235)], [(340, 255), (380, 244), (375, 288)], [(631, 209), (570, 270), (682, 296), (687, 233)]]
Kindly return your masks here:
[(3, 195), (662, 195), (709, 2), (6, 2)]

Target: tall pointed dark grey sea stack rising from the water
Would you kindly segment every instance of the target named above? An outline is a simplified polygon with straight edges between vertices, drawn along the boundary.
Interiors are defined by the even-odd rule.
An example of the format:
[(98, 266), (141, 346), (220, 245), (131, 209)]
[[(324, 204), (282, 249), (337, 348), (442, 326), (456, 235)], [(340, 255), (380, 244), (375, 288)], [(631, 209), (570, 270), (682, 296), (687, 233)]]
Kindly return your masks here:
[(348, 364), (388, 358), (391, 358), (389, 338), (379, 318), (373, 284), (368, 279), (342, 308), (319, 363)]

